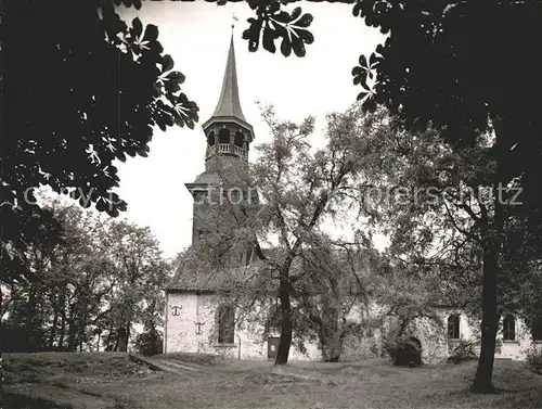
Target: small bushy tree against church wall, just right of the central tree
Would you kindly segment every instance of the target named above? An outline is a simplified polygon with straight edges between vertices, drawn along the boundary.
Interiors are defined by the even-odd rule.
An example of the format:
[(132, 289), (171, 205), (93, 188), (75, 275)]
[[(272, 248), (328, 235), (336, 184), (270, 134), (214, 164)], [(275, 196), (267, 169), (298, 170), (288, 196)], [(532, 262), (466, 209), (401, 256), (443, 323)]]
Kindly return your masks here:
[(307, 243), (300, 279), (295, 289), (296, 331), (315, 333), (323, 360), (337, 362), (345, 340), (362, 336), (378, 324), (372, 317), (372, 296), (379, 255), (354, 243), (341, 243), (323, 233)]

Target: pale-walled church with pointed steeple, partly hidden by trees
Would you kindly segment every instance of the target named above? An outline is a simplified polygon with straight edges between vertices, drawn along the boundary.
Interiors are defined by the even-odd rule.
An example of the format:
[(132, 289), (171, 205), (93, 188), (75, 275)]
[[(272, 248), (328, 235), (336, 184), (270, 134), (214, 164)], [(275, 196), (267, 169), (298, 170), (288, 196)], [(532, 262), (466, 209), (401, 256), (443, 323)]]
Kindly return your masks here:
[[(201, 239), (205, 219), (208, 217), (206, 206), (196, 200), (197, 194), (221, 183), (216, 171), (216, 161), (241, 161), (243, 166), (248, 166), (250, 144), (255, 140), (253, 126), (246, 120), (241, 107), (233, 35), (217, 107), (211, 117), (203, 124), (203, 131), (207, 143), (205, 171), (192, 183), (185, 183), (194, 197), (192, 243)], [(248, 264), (249, 259), (244, 261)], [(438, 310), (442, 319), (440, 330), (423, 320), (411, 329), (422, 344), (422, 359), (426, 363), (444, 361), (460, 340), (474, 340), (479, 333), (479, 322), (472, 322), (461, 309), (441, 306)], [(209, 276), (185, 271), (181, 266), (166, 289), (164, 353), (204, 353), (234, 359), (274, 359), (280, 332), (266, 331), (262, 336), (263, 331), (255, 331), (254, 325), (238, 322), (235, 317), (235, 309), (222, 304), (217, 283), (209, 279)], [(346, 340), (341, 359), (383, 356), (384, 331), (383, 328), (371, 331), (361, 340)], [(541, 335), (532, 336), (520, 319), (512, 315), (505, 316), (500, 323), (495, 357), (524, 360), (526, 350), (533, 343), (542, 342)], [(320, 346), (318, 343), (308, 343), (301, 349), (293, 344), (289, 359), (321, 360)]]

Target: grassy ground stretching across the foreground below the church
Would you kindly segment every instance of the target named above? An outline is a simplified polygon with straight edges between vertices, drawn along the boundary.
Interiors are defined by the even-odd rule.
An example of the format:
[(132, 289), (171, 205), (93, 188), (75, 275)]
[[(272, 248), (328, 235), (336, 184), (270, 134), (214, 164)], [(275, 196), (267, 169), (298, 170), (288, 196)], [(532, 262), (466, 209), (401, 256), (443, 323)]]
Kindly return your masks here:
[(7, 354), (8, 408), (542, 408), (542, 376), (516, 361), (495, 362), (501, 393), (473, 395), (475, 362), (410, 369), (375, 359), (276, 368), (202, 355), (158, 358), (199, 371), (155, 372), (124, 354)]

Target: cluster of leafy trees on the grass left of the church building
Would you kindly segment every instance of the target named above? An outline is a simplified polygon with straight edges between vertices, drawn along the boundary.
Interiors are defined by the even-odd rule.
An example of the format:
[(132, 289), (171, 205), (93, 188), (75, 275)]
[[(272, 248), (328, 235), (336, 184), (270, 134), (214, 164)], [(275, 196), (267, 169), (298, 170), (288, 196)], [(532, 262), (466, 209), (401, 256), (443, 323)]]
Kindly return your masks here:
[(26, 280), (2, 277), (7, 350), (126, 350), (134, 323), (159, 328), (168, 265), (149, 229), (57, 201), (44, 208), (61, 241), (26, 248)]

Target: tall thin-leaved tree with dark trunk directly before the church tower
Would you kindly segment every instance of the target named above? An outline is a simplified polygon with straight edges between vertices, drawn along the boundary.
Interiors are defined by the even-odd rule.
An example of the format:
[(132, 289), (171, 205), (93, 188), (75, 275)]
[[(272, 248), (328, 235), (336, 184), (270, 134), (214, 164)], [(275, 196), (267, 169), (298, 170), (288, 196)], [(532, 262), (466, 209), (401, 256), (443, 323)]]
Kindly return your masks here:
[[(214, 270), (220, 280), (232, 277), (224, 289), (248, 310), (256, 301), (279, 298), (281, 337), (275, 363), (283, 365), (294, 336), (296, 291), (306, 272), (298, 266), (305, 248), (322, 238), (319, 229), (324, 220), (340, 213), (347, 197), (339, 190), (352, 183), (372, 155), (377, 155), (377, 146), (366, 143), (371, 120), (359, 106), (330, 114), (327, 145), (314, 151), (309, 144), (313, 118), (301, 125), (280, 122), (271, 107), (262, 116), (273, 141), (256, 148), (260, 157), (248, 171), (242, 161), (224, 158), (217, 165), (222, 192), (246, 194), (258, 187), (258, 201), (249, 194), (244, 201), (219, 204), (215, 200), (215, 206), (208, 206), (205, 238), (196, 244), (205, 251), (193, 250), (188, 258), (198, 261), (195, 255), (205, 254), (195, 263), (196, 271)], [(276, 242), (271, 244), (273, 237)], [(247, 248), (254, 250), (250, 271), (240, 264)]]

